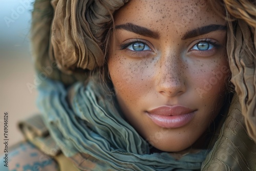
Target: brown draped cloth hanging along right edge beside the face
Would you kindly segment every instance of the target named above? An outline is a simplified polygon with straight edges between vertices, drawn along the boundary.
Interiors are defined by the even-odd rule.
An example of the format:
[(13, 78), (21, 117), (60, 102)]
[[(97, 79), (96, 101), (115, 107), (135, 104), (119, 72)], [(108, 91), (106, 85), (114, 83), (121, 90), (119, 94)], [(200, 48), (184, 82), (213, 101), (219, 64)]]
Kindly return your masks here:
[(231, 81), (249, 136), (256, 142), (256, 1), (224, 0)]

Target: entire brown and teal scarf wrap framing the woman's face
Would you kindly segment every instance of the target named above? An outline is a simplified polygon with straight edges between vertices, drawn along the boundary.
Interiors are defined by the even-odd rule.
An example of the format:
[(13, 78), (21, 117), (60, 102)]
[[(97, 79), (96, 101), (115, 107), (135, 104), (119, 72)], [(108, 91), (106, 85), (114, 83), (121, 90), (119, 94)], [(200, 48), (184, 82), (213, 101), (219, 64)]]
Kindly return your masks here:
[[(74, 160), (77, 155), (81, 157), (87, 154), (93, 157), (92, 160), (99, 163), (103, 161), (104, 164), (108, 163), (107, 165), (118, 169), (121, 169), (125, 161), (126, 164), (134, 165), (132, 169), (141, 170), (166, 166), (179, 167), (182, 170), (189, 167), (198, 169), (198, 163), (202, 163), (207, 155), (204, 151), (196, 155), (193, 153), (184, 155), (178, 160), (179, 162), (174, 162), (173, 160), (177, 160), (175, 158), (167, 157), (166, 165), (158, 161), (170, 156), (163, 153), (154, 157), (156, 163), (152, 165), (152, 156), (148, 155), (148, 144), (135, 135), (136, 131), (127, 126), (124, 120), (117, 116), (119, 115), (117, 112), (113, 112), (116, 111), (115, 109), (109, 108), (110, 103), (104, 103), (107, 99), (98, 89), (99, 83), (89, 83), (87, 86), (81, 83), (74, 84), (78, 80), (86, 79), (87, 71), (103, 65), (101, 42), (105, 34), (105, 26), (111, 24), (112, 14), (125, 2), (121, 0), (35, 2), (31, 31), (32, 52), (36, 59), (38, 75), (46, 73), (48, 77), (39, 84), (38, 98), (38, 105), (44, 114), (45, 122), (62, 152)], [(238, 98), (235, 93), (233, 98), (235, 106), (230, 108), (228, 113), (230, 119), (223, 117), (225, 122), (220, 128), (220, 135), (202, 165), (204, 170), (215, 169), (216, 165), (220, 166), (218, 168), (239, 166), (241, 169), (254, 169), (251, 165), (256, 162), (256, 147), (251, 140), (252, 138), (256, 142), (254, 42), (255, 28), (249, 26), (243, 19), (236, 19), (235, 22), (228, 20), (227, 52), (232, 73), (231, 81)], [(72, 84), (74, 86), (68, 89), (67, 86)], [(99, 93), (96, 93), (96, 90)], [(69, 92), (74, 94), (73, 98), (69, 97)], [(101, 119), (95, 118), (94, 112), (101, 113), (103, 118), (109, 118), (109, 123), (102, 125)], [(235, 122), (232, 122), (233, 120)], [(127, 137), (124, 139), (121, 135), (119, 137), (122, 140), (114, 137), (112, 129), (103, 133), (101, 129), (97, 129), (100, 125), (115, 129), (119, 124), (125, 125), (124, 128), (127, 129), (122, 132), (122, 136)], [(84, 129), (85, 127), (88, 129)], [(103, 135), (108, 138), (102, 138)], [(129, 142), (130, 138), (134, 141)], [(242, 149), (239, 148), (241, 144), (245, 146)], [(131, 155), (133, 160), (130, 161), (127, 156), (120, 154)], [(237, 164), (233, 164), (234, 161)], [(241, 162), (243, 165), (240, 164)]]

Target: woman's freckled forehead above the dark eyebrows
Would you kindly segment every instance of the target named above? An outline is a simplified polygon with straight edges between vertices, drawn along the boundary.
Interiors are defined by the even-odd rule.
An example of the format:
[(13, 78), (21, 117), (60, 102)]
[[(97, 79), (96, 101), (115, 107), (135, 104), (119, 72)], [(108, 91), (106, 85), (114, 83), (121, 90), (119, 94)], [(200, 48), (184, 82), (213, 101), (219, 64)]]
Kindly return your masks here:
[(134, 23), (160, 32), (167, 27), (186, 31), (212, 24), (225, 25), (218, 14), (223, 10), (221, 6), (212, 9), (208, 1), (202, 0), (131, 0), (115, 13), (114, 19), (116, 25)]

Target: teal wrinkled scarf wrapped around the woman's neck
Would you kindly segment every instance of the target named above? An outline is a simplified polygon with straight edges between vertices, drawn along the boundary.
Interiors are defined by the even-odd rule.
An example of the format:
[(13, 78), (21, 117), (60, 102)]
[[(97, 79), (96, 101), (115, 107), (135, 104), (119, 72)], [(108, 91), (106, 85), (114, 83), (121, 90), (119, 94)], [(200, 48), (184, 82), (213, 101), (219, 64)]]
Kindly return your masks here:
[[(94, 80), (94, 81), (93, 81)], [(97, 79), (70, 90), (46, 79), (38, 87), (37, 105), (53, 139), (67, 157), (86, 154), (96, 163), (92, 170), (198, 170), (206, 150), (150, 154), (148, 144), (118, 113), (108, 90)], [(71, 92), (71, 97), (69, 92)]]

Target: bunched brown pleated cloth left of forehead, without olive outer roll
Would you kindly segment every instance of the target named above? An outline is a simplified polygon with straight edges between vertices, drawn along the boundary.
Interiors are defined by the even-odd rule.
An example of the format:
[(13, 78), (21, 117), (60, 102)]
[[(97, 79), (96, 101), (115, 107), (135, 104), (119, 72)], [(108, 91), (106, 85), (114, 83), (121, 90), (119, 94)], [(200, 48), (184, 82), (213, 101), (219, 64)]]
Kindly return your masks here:
[(102, 37), (111, 14), (124, 5), (124, 0), (59, 0), (54, 1), (51, 46), (58, 68), (72, 73), (76, 69), (93, 70), (102, 66)]

